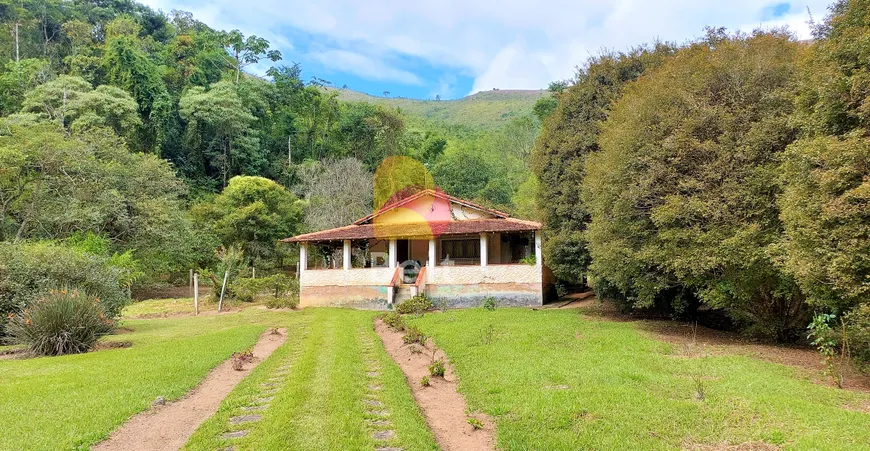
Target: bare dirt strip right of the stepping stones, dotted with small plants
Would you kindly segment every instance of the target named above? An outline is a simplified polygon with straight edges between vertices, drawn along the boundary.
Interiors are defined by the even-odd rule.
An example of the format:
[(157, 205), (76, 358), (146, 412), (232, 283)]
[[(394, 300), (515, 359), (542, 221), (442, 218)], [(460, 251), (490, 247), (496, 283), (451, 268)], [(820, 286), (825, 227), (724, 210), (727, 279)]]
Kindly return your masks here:
[[(381, 320), (375, 320), (375, 331), (384, 342), (384, 347), (393, 360), (405, 373), (414, 399), (426, 417), (426, 423), (435, 435), (435, 441), (445, 451), (480, 451), (495, 449), (494, 426), (492, 420), (483, 414), (471, 415), (483, 423), (483, 429), (475, 430), (466, 414), (468, 405), (465, 398), (456, 391), (456, 375), (448, 363), (444, 378), (430, 377), (430, 386), (420, 385), (423, 376), (429, 376), (434, 344), (422, 353), (411, 352), (412, 345), (402, 342), (402, 334), (395, 332)], [(435, 358), (447, 362), (447, 356), (435, 348)]]

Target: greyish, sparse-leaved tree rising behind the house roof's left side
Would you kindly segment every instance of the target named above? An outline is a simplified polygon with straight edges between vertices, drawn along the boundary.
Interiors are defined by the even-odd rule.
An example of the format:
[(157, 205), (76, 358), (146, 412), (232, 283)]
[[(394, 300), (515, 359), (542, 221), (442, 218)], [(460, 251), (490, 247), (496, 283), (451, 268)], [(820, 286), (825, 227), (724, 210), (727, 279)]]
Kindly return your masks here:
[(361, 161), (326, 161), (304, 180), (309, 230), (346, 226), (372, 212), (372, 174)]

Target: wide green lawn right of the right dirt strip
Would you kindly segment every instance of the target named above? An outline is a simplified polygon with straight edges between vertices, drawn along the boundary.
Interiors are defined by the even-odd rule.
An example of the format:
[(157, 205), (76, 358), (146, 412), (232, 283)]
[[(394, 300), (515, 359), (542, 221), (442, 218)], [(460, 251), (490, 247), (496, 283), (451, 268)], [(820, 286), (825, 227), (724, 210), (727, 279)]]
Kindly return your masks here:
[[(870, 449), (870, 395), (745, 356), (687, 357), (632, 323), (577, 310), (483, 309), (410, 320), (450, 356), (499, 449), (679, 449), (765, 441)], [(490, 332), (491, 327), (491, 332)], [(706, 397), (695, 399), (697, 377)]]

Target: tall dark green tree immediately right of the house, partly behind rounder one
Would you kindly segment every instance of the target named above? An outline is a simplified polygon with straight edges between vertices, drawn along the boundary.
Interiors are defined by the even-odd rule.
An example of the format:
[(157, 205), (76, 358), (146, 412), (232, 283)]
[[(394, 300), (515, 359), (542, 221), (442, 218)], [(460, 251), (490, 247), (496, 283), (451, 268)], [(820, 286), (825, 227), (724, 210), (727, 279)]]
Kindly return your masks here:
[(673, 51), (669, 45), (656, 44), (591, 58), (573, 85), (549, 97), (557, 100), (552, 112), (547, 112), (552, 104), (538, 107), (543, 125), (531, 167), (539, 181), (538, 205), (547, 225), (544, 258), (559, 279), (581, 283), (590, 262), (582, 238), (589, 212), (580, 185), (586, 158), (600, 149), (601, 124), (610, 105), (626, 84), (659, 66)]

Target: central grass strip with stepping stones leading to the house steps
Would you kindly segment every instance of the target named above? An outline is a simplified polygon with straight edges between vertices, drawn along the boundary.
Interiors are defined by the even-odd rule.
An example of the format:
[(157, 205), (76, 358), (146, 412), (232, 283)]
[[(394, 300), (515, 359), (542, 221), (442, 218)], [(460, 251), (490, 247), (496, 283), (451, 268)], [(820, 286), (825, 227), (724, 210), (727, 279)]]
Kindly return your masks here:
[[(394, 446), (405, 450), (436, 450), (432, 434), (414, 403), (398, 366), (386, 354), (372, 330), (372, 312), (307, 309), (305, 333), (292, 333), (287, 345), (260, 365), (203, 424), (186, 449), (215, 450), (372, 450)], [(261, 421), (230, 425), (229, 418), (245, 412), (262, 398), (261, 384), (289, 366), (274, 400), (257, 412)], [(372, 374), (368, 374), (376, 368)], [(370, 385), (378, 386), (371, 390)], [(372, 425), (366, 412), (367, 395), (381, 402), (391, 425)], [(248, 430), (247, 436), (226, 439), (227, 431)], [(376, 430), (392, 430), (396, 438), (375, 442)]]

